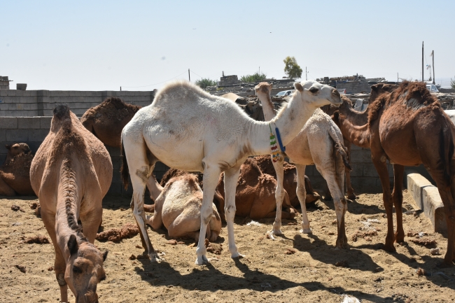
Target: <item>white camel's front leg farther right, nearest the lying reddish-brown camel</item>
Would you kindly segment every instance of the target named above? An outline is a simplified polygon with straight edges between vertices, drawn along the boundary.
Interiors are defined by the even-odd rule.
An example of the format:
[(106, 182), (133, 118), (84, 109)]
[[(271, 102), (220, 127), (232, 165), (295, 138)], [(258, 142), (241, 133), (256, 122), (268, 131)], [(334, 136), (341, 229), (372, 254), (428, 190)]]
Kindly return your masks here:
[[(235, 217), (235, 189), (237, 188), (237, 180), (239, 179), (240, 167), (228, 169), (224, 173), (224, 188), (225, 188), (225, 215), (228, 224), (228, 242), (231, 258), (243, 257), (235, 245), (234, 235), (234, 217)], [(205, 183), (204, 183), (205, 190)], [(280, 217), (281, 218), (281, 217)]]

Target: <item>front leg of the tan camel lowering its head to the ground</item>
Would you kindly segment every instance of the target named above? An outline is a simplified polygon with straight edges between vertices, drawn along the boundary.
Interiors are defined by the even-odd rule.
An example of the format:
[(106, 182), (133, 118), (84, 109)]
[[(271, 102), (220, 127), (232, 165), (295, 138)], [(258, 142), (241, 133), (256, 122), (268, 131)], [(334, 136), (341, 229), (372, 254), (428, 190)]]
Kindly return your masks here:
[(62, 299), (62, 302), (68, 302), (68, 285), (65, 281), (66, 262), (57, 243), (57, 235), (55, 234), (55, 213), (52, 214), (43, 210), (41, 211), (41, 219), (43, 220), (45, 229), (48, 231), (49, 237), (52, 240), (52, 244), (54, 244), (54, 272), (55, 277), (57, 278), (57, 283), (59, 283), (60, 287), (60, 298)]

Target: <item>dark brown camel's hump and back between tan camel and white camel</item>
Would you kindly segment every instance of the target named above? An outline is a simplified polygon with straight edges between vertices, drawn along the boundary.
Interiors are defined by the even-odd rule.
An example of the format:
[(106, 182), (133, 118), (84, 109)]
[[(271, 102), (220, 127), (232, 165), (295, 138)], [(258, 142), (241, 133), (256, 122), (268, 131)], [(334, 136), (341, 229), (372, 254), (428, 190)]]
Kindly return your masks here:
[(107, 146), (120, 147), (122, 129), (139, 109), (141, 106), (127, 104), (117, 97), (109, 97), (101, 104), (87, 109), (80, 122)]

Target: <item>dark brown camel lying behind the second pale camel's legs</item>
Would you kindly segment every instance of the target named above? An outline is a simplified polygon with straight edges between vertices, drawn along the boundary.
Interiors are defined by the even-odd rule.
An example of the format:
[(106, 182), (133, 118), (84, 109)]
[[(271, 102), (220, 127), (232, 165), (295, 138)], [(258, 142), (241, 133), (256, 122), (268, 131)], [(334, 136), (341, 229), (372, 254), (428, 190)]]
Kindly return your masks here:
[[(276, 179), (276, 171), (273, 167), (272, 160), (269, 155), (262, 155), (254, 157), (254, 160), (258, 162), (258, 166), (262, 173), (269, 174)], [(288, 162), (283, 162), (284, 168), (284, 179), (283, 179), (283, 188), (288, 192), (290, 205), (293, 207), (300, 207), (300, 202), (297, 197), (295, 190), (297, 190), (297, 169), (295, 165)], [(307, 197), (305, 199), (305, 204), (318, 201), (321, 199), (321, 196), (313, 190), (309, 178), (305, 176), (305, 190), (307, 190)]]

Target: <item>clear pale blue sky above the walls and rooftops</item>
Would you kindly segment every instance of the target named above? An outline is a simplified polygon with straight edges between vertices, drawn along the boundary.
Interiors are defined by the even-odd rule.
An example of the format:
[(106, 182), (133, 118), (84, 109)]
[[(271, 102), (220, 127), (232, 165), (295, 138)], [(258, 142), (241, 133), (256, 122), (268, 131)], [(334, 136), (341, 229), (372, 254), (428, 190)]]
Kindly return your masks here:
[(152, 90), (188, 69), (193, 81), (281, 78), (294, 56), (309, 79), (421, 79), (425, 41), (425, 64), (435, 50), (437, 83), (449, 85), (454, 12), (454, 0), (1, 0), (0, 75), (28, 90)]

